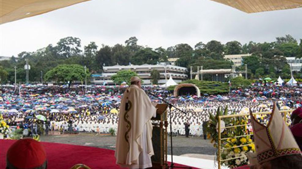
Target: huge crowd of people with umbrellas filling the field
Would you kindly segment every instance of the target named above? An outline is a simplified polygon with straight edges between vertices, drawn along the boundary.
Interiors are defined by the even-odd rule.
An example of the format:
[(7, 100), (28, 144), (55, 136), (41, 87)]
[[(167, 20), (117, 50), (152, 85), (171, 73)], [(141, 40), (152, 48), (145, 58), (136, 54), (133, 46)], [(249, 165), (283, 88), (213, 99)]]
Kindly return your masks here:
[[(172, 108), (173, 134), (203, 135), (203, 123), (209, 113), (218, 107), (228, 107), (229, 113), (271, 111), (273, 102), (280, 109), (301, 106), (301, 86), (275, 86), (255, 83), (248, 89), (231, 90), (221, 95), (193, 93), (174, 97), (172, 91), (158, 86), (143, 86), (152, 102), (165, 99), (187, 114)], [(24, 128), (24, 135), (49, 134), (50, 132), (117, 131), (118, 112), (125, 86), (1, 86), (0, 113), (10, 126)], [(37, 115), (45, 119), (39, 119)], [(261, 117), (263, 118), (263, 117)], [(262, 120), (265, 120), (262, 119)], [(169, 126), (170, 129), (170, 126)], [(170, 130), (168, 130), (170, 132)]]

